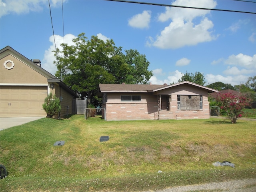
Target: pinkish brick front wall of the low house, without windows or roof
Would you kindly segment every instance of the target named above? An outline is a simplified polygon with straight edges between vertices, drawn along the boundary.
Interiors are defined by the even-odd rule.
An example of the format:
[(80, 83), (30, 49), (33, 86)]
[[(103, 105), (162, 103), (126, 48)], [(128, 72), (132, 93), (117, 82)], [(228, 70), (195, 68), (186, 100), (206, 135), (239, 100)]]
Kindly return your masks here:
[[(154, 120), (154, 119), (207, 119), (210, 118), (208, 92), (175, 92), (161, 94), (161, 110), (158, 110), (159, 93), (108, 93), (103, 96), (102, 107), (106, 108), (106, 120)], [(178, 110), (177, 95), (202, 95), (202, 109)], [(140, 102), (121, 102), (121, 95), (140, 95)], [(170, 97), (170, 102), (168, 102)], [(168, 102), (168, 103), (167, 103)], [(170, 109), (170, 110), (169, 110)]]

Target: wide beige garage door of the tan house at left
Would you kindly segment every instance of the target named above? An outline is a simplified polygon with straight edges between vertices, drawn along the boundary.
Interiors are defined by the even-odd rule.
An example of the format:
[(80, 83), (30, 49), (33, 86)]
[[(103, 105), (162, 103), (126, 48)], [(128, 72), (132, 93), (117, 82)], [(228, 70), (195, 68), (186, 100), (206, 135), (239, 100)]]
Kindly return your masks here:
[(46, 116), (47, 86), (1, 86), (0, 117)]

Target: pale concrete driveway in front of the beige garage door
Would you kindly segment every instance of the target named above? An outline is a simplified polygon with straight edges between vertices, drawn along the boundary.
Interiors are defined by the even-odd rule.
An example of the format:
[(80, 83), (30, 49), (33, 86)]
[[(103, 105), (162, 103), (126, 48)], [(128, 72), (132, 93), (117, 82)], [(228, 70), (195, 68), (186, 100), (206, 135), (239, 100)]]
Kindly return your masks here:
[(13, 126), (22, 125), (30, 121), (38, 120), (44, 117), (1, 117), (0, 131)]

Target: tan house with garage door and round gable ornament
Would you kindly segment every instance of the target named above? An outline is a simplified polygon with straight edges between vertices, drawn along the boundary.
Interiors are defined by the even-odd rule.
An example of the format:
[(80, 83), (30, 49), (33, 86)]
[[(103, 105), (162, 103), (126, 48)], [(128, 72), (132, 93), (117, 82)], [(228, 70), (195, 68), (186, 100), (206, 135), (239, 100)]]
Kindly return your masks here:
[[(52, 92), (61, 101), (60, 116), (76, 110), (78, 96), (43, 68), (10, 46), (0, 50), (0, 117), (45, 117), (44, 99)], [(73, 107), (74, 106), (74, 107)]]

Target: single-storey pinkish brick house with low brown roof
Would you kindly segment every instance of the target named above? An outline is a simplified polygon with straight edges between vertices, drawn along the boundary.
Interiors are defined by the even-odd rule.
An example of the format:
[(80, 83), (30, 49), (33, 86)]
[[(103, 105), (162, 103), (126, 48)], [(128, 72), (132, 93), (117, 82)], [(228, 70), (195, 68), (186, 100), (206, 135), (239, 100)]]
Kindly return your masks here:
[(207, 119), (212, 88), (184, 81), (172, 85), (99, 84), (106, 120)]

